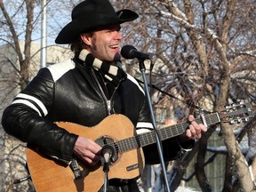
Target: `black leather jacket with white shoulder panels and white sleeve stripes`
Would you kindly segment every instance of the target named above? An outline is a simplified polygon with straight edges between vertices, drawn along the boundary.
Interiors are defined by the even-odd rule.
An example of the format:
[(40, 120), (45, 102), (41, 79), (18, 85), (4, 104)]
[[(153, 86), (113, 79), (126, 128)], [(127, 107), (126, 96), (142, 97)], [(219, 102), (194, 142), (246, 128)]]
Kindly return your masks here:
[[(42, 68), (5, 108), (2, 124), (5, 132), (68, 162), (78, 136), (53, 122), (93, 126), (115, 113), (127, 116), (134, 126), (143, 124), (147, 127), (150, 118), (145, 98), (143, 89), (132, 76), (128, 75), (113, 94), (108, 94), (103, 77), (95, 69), (75, 60), (67, 60)], [(180, 151), (176, 140), (169, 140), (164, 148), (168, 159), (177, 156)], [(146, 162), (147, 159), (148, 162), (155, 162), (156, 146), (143, 149), (144, 153), (146, 150)]]

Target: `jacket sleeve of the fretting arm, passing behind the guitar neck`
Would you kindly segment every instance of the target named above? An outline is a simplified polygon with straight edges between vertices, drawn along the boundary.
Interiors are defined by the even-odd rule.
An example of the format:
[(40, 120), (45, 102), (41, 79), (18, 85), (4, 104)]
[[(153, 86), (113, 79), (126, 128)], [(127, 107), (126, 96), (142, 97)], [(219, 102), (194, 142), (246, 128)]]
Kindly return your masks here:
[[(148, 103), (146, 101), (147, 100), (145, 99), (140, 110), (139, 122), (137, 124), (138, 133), (142, 133), (145, 131), (153, 131), (153, 125), (151, 124)], [(188, 140), (186, 142), (179, 143), (177, 140), (178, 137), (179, 136), (170, 138), (168, 140), (163, 140), (161, 142), (165, 162), (179, 158), (186, 151), (188, 151), (190, 148), (194, 146), (195, 140)], [(145, 156), (146, 164), (160, 163), (156, 143), (143, 147), (143, 153)]]

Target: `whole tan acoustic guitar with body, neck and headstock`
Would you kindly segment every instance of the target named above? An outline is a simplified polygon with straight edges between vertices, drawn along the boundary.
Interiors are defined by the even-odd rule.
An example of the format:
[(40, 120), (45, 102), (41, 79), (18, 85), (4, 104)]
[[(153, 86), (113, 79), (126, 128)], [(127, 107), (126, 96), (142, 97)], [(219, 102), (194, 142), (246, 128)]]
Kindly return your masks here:
[[(207, 125), (240, 122), (251, 116), (252, 109), (245, 103), (228, 107), (220, 113), (201, 116), (196, 118), (196, 122)], [(140, 177), (145, 163), (142, 147), (156, 143), (154, 131), (136, 134), (132, 122), (123, 115), (108, 116), (93, 127), (65, 122), (56, 124), (68, 132), (96, 141), (102, 147), (109, 145), (115, 149), (109, 165), (108, 180)], [(188, 123), (184, 122), (159, 128), (157, 132), (160, 140), (167, 140), (186, 132), (187, 128)], [(60, 160), (39, 153), (35, 148), (27, 148), (27, 160), (29, 173), (38, 192), (93, 192), (99, 191), (104, 184), (105, 173), (102, 165), (92, 169), (77, 159), (80, 170), (80, 179), (77, 179), (69, 165), (61, 164)]]

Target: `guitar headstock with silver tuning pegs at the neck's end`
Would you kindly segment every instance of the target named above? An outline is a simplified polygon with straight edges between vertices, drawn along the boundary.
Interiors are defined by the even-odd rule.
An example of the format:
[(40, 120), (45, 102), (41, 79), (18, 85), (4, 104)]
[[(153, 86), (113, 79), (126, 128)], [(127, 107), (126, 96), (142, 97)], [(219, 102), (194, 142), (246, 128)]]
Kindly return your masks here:
[(248, 122), (254, 116), (250, 103), (234, 103), (226, 106), (225, 110), (219, 113), (221, 122), (228, 122), (230, 124), (240, 124)]

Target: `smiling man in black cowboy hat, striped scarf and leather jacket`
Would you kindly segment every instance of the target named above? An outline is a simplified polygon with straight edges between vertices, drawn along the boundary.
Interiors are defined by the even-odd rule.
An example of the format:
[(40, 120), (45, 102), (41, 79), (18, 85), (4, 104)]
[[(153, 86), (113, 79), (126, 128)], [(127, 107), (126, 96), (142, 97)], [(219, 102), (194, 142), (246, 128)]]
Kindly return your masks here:
[[(57, 44), (71, 44), (75, 57), (38, 72), (4, 110), (5, 132), (60, 161), (69, 164), (76, 156), (93, 167), (101, 159), (100, 145), (54, 122), (91, 127), (111, 114), (123, 114), (137, 132), (151, 130), (145, 93), (120, 68), (120, 24), (137, 18), (138, 14), (131, 10), (115, 12), (108, 0), (85, 0), (77, 4), (72, 21), (55, 40)], [(206, 131), (204, 125), (193, 120), (193, 116), (188, 117), (190, 125), (183, 135), (163, 142), (166, 160), (179, 156), (183, 148), (191, 148), (192, 139), (199, 139), (201, 132)], [(157, 163), (156, 145), (143, 150), (147, 163)], [(134, 180), (115, 185), (122, 185), (123, 191), (139, 191)]]

